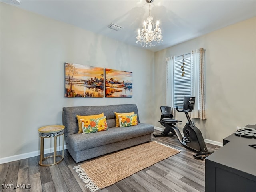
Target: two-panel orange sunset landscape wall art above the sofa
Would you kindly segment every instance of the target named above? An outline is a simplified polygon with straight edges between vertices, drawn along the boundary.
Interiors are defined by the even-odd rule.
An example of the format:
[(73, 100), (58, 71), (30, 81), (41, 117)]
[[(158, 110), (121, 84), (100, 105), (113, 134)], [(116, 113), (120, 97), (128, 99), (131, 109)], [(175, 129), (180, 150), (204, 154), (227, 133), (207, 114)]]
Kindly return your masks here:
[[(105, 84), (104, 84), (105, 81)], [(65, 63), (65, 97), (132, 97), (132, 72)]]

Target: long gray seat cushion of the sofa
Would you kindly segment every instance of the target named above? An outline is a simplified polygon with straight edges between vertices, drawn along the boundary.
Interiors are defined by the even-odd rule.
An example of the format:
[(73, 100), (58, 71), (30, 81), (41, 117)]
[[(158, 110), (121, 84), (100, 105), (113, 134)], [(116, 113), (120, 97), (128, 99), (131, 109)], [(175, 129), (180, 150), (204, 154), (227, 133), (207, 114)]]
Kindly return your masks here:
[(139, 137), (146, 134), (151, 134), (154, 131), (154, 126), (139, 123), (132, 127), (112, 127), (108, 131), (100, 131), (93, 134), (72, 134), (66, 137), (68, 147), (74, 151), (82, 151), (93, 147), (98, 147), (126, 139)]

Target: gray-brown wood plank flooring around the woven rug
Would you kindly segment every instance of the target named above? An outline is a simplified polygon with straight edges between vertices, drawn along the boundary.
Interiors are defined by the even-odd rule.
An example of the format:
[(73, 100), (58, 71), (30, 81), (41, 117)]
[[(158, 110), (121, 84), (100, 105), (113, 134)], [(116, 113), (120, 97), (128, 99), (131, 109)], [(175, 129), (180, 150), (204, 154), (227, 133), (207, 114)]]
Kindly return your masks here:
[[(154, 133), (160, 133), (155, 130)], [(176, 136), (158, 137), (153, 141), (171, 145), (182, 152), (145, 168), (100, 192), (204, 192), (205, 160), (194, 159), (194, 152), (184, 148)], [(207, 144), (208, 151), (220, 147)], [(161, 153), (161, 151), (159, 151)], [(48, 154), (49, 155), (49, 154)], [(38, 165), (39, 156), (0, 165), (0, 192), (89, 192), (73, 167), (68, 151), (57, 165)], [(51, 163), (51, 159), (47, 159)]]

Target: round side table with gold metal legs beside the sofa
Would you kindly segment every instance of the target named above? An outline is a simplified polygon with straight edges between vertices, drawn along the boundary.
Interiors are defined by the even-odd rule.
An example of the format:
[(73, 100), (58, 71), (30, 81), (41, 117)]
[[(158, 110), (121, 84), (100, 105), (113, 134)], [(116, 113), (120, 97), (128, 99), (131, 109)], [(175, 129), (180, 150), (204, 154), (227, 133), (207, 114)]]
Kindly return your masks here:
[[(57, 163), (60, 163), (64, 159), (64, 128), (65, 126), (63, 125), (49, 125), (45, 127), (41, 127), (38, 129), (39, 131), (39, 137), (40, 137), (40, 161), (39, 165), (41, 166), (50, 166), (50, 165), (55, 165)], [(62, 136), (62, 155), (57, 155), (57, 137)], [(54, 155), (50, 155), (47, 157), (44, 157), (44, 138), (52, 138), (54, 137)], [(43, 164), (42, 161), (54, 157), (54, 161), (52, 164)], [(62, 157), (59, 161), (56, 162), (56, 157)]]

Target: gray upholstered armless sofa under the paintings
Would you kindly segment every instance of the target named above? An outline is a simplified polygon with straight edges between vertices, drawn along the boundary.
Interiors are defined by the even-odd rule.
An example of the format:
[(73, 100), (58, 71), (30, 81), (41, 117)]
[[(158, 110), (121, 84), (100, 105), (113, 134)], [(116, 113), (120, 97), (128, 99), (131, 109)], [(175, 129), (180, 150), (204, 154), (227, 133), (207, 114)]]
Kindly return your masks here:
[[(138, 125), (131, 127), (115, 127), (116, 116), (114, 112), (135, 112)], [(78, 120), (76, 115), (94, 115), (104, 112), (107, 118), (108, 130), (97, 133), (78, 134)], [(64, 107), (62, 121), (65, 126), (67, 149), (76, 163), (91, 159), (151, 141), (154, 126), (140, 123), (137, 106), (134, 104), (106, 105), (106, 106), (79, 106)]]

